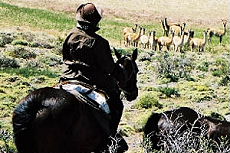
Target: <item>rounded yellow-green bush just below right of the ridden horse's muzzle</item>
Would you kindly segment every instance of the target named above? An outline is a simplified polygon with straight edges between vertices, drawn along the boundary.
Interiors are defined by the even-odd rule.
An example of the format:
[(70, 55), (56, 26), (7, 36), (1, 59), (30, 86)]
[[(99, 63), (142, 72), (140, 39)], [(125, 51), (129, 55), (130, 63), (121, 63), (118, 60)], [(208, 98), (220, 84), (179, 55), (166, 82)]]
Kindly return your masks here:
[(158, 97), (154, 92), (146, 92), (140, 97), (134, 107), (145, 109), (152, 107), (162, 108), (162, 104), (159, 103)]

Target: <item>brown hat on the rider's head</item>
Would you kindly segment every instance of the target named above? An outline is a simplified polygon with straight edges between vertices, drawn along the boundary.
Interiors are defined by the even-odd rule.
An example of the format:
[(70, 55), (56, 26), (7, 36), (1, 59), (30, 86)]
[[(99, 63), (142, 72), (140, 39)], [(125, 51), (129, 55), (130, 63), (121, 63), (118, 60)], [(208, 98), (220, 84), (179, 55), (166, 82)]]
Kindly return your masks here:
[(102, 18), (102, 10), (96, 7), (93, 3), (81, 4), (77, 8), (77, 21), (86, 22), (93, 26), (97, 26)]

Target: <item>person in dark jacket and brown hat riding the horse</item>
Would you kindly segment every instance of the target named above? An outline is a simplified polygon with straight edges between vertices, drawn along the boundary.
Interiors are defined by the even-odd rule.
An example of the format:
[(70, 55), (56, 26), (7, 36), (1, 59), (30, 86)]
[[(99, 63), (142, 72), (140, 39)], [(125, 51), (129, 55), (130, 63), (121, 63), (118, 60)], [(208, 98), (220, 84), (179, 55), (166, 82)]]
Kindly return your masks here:
[[(110, 104), (112, 135), (117, 127), (123, 111), (120, 91), (113, 74), (115, 63), (109, 42), (96, 34), (100, 28), (98, 23), (103, 11), (92, 3), (81, 4), (76, 11), (77, 27), (67, 36), (63, 44), (63, 60), (68, 67), (66, 80), (80, 80), (104, 90), (114, 105)], [(125, 143), (126, 147), (127, 144)]]

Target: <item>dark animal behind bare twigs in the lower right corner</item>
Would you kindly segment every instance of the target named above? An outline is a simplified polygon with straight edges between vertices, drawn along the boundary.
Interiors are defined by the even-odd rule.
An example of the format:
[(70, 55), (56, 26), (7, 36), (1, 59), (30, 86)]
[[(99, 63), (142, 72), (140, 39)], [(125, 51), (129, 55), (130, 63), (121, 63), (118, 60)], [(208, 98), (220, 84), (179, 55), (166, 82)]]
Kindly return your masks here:
[[(150, 151), (164, 150), (166, 145), (174, 145), (173, 143), (166, 144), (166, 142), (170, 143), (177, 141), (178, 146), (183, 146), (180, 144), (179, 139), (184, 139), (184, 144), (187, 143), (184, 141), (192, 140), (191, 142), (188, 142), (189, 145), (194, 145), (191, 148), (199, 148), (199, 139), (197, 138), (200, 136), (210, 138), (217, 144), (220, 143), (222, 137), (226, 137), (227, 140), (230, 140), (230, 122), (203, 116), (188, 107), (180, 107), (163, 113), (152, 113), (148, 118), (143, 131), (144, 141), (150, 142), (148, 143), (149, 146), (147, 146)], [(190, 138), (185, 138), (186, 135), (190, 136)], [(187, 146), (184, 146), (189, 147), (188, 144), (186, 144)], [(171, 149), (173, 149), (172, 146)]]

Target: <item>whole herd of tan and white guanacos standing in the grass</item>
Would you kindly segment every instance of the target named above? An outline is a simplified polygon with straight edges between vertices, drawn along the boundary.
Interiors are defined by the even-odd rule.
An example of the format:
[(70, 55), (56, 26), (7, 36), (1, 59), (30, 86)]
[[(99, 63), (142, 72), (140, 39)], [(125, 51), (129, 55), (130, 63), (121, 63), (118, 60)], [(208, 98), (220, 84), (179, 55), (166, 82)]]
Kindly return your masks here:
[(223, 29), (208, 28), (203, 32), (203, 38), (194, 37), (194, 31), (185, 30), (186, 23), (168, 23), (167, 18), (161, 20), (163, 36), (156, 37), (156, 31), (150, 31), (146, 34), (146, 29), (138, 24), (134, 28), (126, 27), (123, 30), (124, 45), (126, 47), (142, 47), (154, 51), (162, 50), (163, 47), (169, 51), (171, 46), (174, 51), (184, 51), (184, 48), (190, 47), (191, 51), (195, 48), (198, 51), (205, 51), (207, 43), (212, 42), (212, 37), (219, 37), (220, 44), (227, 30), (227, 20), (222, 20)]

